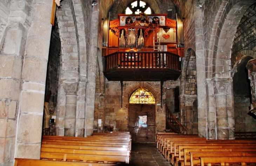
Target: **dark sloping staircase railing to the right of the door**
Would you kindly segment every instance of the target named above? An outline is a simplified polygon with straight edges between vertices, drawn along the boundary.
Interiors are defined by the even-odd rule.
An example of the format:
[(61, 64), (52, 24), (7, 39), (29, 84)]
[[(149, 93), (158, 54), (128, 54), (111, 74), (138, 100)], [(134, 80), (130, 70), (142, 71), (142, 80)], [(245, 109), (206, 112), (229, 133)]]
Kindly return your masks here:
[(166, 105), (166, 123), (177, 134), (187, 134), (188, 129), (184, 127), (171, 113), (167, 104)]

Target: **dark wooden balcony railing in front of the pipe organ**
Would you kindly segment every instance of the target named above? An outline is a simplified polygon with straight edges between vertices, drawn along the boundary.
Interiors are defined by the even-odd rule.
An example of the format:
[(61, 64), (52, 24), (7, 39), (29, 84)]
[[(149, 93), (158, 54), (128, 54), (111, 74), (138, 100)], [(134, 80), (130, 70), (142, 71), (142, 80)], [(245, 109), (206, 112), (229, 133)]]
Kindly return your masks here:
[(170, 52), (115, 52), (104, 56), (104, 71), (114, 68), (181, 70), (180, 56)]

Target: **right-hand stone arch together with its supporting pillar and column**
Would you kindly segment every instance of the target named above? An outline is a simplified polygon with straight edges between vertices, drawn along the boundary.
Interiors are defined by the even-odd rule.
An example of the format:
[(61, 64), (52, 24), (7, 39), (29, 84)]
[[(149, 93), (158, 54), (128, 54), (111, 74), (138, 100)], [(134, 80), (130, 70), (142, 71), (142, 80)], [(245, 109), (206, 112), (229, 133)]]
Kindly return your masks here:
[[(207, 92), (209, 96), (213, 96), (213, 98), (209, 98), (210, 105), (207, 112), (207, 137), (210, 139), (234, 139), (231, 48), (237, 26), (252, 3), (250, 0), (223, 1), (216, 11), (217, 14), (209, 36), (209, 52), (205, 61), (207, 64), (206, 76), (211, 79), (207, 84)], [(214, 116), (216, 122), (211, 120)]]

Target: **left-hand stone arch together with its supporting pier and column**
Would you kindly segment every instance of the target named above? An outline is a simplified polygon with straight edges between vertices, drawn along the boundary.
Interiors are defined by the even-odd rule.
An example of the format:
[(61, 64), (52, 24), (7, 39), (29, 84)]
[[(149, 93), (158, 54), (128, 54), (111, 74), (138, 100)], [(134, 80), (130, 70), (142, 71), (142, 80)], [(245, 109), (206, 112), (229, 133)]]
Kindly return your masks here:
[[(85, 103), (82, 99), (85, 98), (86, 70), (84, 67), (86, 67), (86, 63), (80, 63), (81, 60), (86, 62), (85, 34), (78, 28), (80, 24), (83, 24), (83, 19), (80, 19), (79, 9), (76, 8), (78, 6), (74, 6), (73, 1), (63, 1), (61, 5), (60, 9), (56, 9), (62, 46), (58, 96), (66, 96), (66, 101), (65, 97), (64, 100), (58, 99), (56, 135), (83, 136), (84, 123), (76, 124), (76, 121), (84, 121), (83, 116), (79, 116), (77, 113), (82, 114), (85, 111), (85, 108), (80, 106)], [(68, 90), (70, 86), (75, 87), (74, 92)], [(70, 95), (72, 99), (70, 99)], [(72, 103), (70, 103), (71, 101)], [(68, 114), (65, 114), (66, 109), (69, 110)], [(74, 122), (71, 125), (68, 124), (69, 117)]]

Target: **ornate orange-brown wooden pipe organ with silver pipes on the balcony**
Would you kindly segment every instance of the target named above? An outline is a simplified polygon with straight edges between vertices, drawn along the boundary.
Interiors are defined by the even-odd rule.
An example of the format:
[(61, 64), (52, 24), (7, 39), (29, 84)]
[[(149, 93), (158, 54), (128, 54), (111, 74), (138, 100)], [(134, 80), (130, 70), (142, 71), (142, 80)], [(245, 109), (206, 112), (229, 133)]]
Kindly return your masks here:
[(119, 14), (118, 19), (104, 22), (102, 46), (106, 51), (103, 52), (108, 55), (130, 48), (154, 51), (155, 31), (160, 45), (167, 45), (167, 48), (163, 47), (167, 50), (161, 51), (178, 54), (175, 49), (184, 47), (182, 20), (178, 16), (175, 21), (167, 18), (167, 14)]

